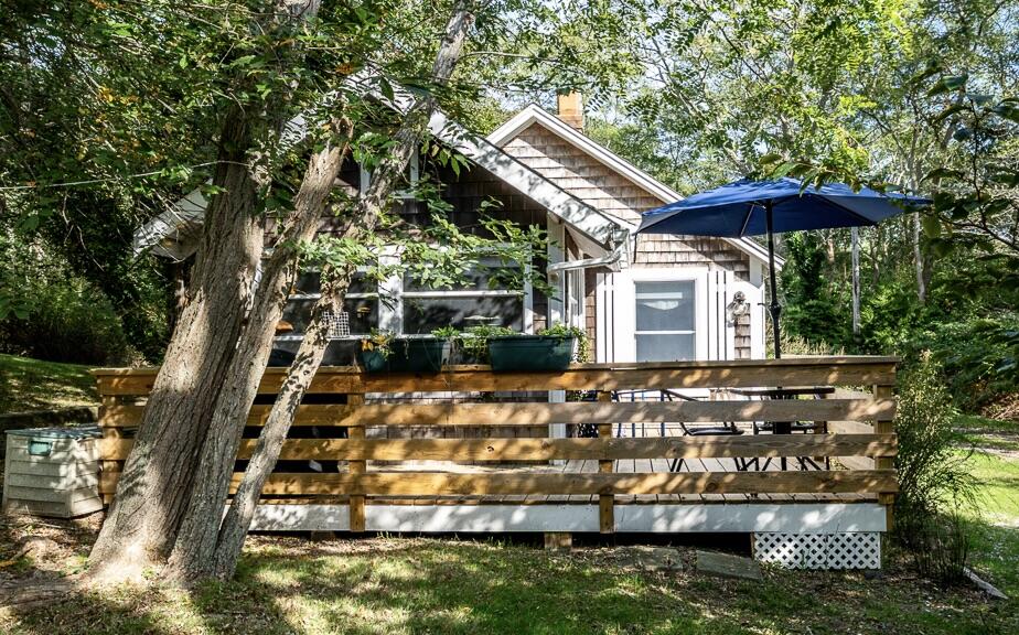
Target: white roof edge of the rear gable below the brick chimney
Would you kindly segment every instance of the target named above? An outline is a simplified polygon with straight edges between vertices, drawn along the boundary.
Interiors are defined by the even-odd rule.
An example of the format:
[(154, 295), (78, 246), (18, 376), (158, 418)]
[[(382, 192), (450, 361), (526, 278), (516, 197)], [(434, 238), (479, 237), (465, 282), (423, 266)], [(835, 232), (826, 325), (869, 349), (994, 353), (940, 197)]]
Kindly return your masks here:
[[(555, 132), (571, 146), (593, 157), (645, 192), (655, 196), (662, 201), (663, 204), (680, 201), (684, 197), (682, 194), (656, 180), (633, 163), (630, 163), (597, 141), (591, 140), (572, 126), (562, 122), (561, 119), (537, 104), (530, 104), (517, 112), (512, 119), (489, 134), (487, 140), (502, 148), (533, 123), (539, 123)], [(720, 238), (720, 240), (729, 243), (753, 258), (764, 262), (768, 261), (768, 250), (750, 238)], [(781, 268), (783, 263), (784, 260), (775, 256), (775, 266)]]

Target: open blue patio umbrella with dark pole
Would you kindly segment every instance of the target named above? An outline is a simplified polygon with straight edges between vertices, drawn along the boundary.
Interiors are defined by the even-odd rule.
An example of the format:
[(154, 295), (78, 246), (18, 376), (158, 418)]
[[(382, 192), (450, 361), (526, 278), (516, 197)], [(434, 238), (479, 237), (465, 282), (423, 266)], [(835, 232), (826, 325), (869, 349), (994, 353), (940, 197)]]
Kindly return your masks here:
[(782, 356), (775, 289), (775, 233), (877, 225), (911, 206), (931, 201), (843, 183), (807, 186), (795, 179), (736, 181), (643, 214), (639, 234), (680, 234), (741, 238), (768, 235), (771, 313), (775, 357)]

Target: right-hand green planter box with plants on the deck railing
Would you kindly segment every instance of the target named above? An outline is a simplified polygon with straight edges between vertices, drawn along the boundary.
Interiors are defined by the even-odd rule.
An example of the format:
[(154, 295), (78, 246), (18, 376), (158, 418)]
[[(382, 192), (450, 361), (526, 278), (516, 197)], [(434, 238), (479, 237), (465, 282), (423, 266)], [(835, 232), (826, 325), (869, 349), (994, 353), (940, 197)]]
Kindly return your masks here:
[(576, 326), (556, 324), (537, 335), (513, 334), (487, 337), (492, 370), (565, 370), (570, 362), (588, 356), (587, 334)]

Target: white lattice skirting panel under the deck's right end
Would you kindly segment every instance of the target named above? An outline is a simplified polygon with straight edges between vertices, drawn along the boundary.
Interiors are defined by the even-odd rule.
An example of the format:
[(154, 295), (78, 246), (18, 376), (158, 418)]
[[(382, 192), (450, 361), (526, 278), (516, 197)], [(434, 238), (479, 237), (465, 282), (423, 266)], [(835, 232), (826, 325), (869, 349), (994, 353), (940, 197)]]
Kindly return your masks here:
[(880, 569), (881, 534), (753, 535), (754, 558), (790, 569)]

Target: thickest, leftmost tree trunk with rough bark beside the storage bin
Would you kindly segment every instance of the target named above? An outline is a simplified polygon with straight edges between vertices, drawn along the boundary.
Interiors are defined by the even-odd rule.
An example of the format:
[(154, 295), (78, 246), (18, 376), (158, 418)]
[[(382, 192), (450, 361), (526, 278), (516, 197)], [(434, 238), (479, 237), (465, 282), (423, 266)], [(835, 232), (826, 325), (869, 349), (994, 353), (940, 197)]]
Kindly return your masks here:
[[(286, 37), (318, 6), (318, 0), (278, 0), (259, 30)], [(248, 164), (250, 151), (279, 127), (279, 115), (271, 105), (268, 114), (236, 105), (225, 116), (213, 176), (222, 192), (206, 211), (186, 304), (89, 556), (94, 578), (138, 578), (173, 548), (262, 255), (265, 228), (255, 214), (261, 183)]]

